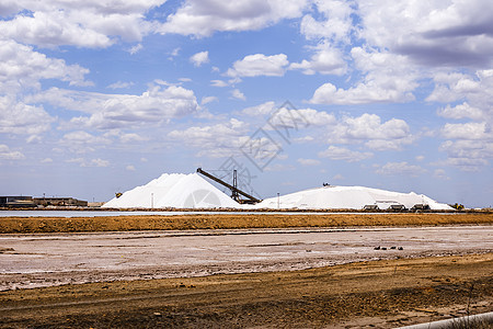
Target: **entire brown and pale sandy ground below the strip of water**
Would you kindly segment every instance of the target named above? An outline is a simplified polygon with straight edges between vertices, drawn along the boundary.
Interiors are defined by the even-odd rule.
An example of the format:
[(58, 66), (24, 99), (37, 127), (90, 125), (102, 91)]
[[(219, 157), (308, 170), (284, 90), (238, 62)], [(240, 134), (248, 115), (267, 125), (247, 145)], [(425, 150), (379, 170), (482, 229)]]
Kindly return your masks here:
[[(394, 328), (493, 310), (491, 214), (406, 215), (1, 220), (173, 230), (0, 235), (0, 327)], [(290, 228), (218, 229), (267, 220)]]

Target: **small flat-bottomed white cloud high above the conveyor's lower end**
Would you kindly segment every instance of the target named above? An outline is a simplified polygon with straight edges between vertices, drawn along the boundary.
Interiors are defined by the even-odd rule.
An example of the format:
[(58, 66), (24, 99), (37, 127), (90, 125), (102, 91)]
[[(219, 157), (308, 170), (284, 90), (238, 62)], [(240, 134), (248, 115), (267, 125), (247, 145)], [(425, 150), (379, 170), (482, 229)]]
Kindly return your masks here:
[(248, 55), (237, 60), (233, 67), (228, 69), (229, 77), (282, 77), (289, 61), (285, 54), (265, 56), (263, 54)]

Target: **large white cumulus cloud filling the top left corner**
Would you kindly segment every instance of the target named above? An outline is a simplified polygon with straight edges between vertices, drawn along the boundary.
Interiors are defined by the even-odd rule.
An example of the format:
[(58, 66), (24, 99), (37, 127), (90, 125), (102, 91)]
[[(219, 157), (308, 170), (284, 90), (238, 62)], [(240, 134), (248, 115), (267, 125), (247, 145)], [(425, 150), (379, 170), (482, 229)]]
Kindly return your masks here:
[[(151, 24), (145, 21), (144, 14), (162, 2), (21, 2), (15, 9), (11, 9), (12, 19), (0, 22), (0, 30), (3, 36), (39, 47), (72, 45), (105, 48), (115, 44), (117, 38), (126, 42), (141, 41), (151, 31)], [(23, 10), (32, 14), (25, 14)]]

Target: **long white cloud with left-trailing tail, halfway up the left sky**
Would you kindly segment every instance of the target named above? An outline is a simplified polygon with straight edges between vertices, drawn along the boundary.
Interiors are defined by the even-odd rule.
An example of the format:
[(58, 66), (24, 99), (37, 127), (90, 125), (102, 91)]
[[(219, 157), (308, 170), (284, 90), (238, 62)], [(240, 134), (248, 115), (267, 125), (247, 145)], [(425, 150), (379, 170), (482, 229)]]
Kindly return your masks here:
[(30, 100), (90, 113), (90, 116), (73, 117), (67, 127), (84, 126), (98, 129), (135, 127), (142, 124), (160, 125), (171, 118), (198, 111), (194, 92), (176, 86), (165, 89), (153, 86), (140, 95), (77, 92), (51, 88)]

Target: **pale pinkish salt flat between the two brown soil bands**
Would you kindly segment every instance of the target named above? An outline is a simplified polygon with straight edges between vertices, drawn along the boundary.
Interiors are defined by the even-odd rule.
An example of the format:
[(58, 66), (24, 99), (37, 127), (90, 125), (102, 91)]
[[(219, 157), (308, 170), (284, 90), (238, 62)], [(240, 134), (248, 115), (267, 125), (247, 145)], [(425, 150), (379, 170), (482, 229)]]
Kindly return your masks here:
[(493, 226), (3, 235), (0, 250), (10, 290), (481, 253), (493, 250)]

